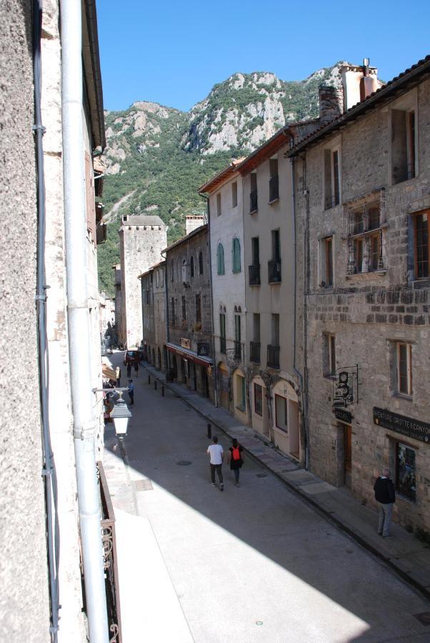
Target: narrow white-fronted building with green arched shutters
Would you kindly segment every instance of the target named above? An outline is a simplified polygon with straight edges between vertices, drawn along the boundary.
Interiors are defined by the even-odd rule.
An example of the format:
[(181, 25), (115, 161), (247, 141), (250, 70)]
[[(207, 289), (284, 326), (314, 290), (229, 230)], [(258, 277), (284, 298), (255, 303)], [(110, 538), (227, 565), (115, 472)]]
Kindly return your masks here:
[(242, 179), (237, 171), (239, 163), (232, 161), (201, 186), (199, 193), (207, 194), (209, 199), (218, 403), (239, 420), (247, 422), (246, 396), (241, 397), (246, 344), (244, 221)]

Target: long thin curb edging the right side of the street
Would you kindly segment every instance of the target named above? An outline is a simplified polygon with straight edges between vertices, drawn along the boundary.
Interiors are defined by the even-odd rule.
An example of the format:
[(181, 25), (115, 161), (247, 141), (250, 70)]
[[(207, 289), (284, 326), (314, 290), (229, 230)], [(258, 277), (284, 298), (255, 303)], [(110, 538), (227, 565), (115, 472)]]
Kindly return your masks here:
[[(178, 395), (176, 393), (176, 391), (174, 391), (174, 389), (172, 389), (169, 386), (169, 383), (167, 383), (164, 379), (160, 379), (159, 377), (154, 375), (152, 372), (150, 372), (145, 364), (143, 364), (143, 367), (144, 367), (144, 369), (146, 369), (146, 371), (149, 374), (152, 375), (152, 377), (154, 377), (155, 379), (158, 379), (159, 382), (163, 382), (164, 385), (169, 389), (169, 391), (171, 391), (172, 393), (177, 395), (177, 397), (180, 397), (182, 402), (184, 402), (184, 404), (186, 404), (188, 407), (193, 409), (194, 412), (196, 412), (201, 417), (206, 419), (207, 422), (211, 422), (211, 424), (214, 424), (214, 426), (217, 429), (219, 429), (219, 431), (221, 431), (225, 435), (228, 435), (229, 437), (231, 437), (229, 432), (228, 432), (228, 429), (222, 427), (221, 424), (218, 424), (218, 422), (216, 422), (216, 420), (214, 420), (213, 418), (211, 418), (208, 415), (204, 414), (204, 412), (202, 412), (200, 409), (194, 407), (194, 404), (191, 404), (191, 402), (189, 402), (189, 400), (187, 400), (185, 397), (181, 397), (180, 395)], [(281, 482), (284, 483), (284, 485), (289, 489), (289, 491), (294, 492), (294, 494), (296, 494), (296, 496), (298, 496), (301, 500), (306, 502), (306, 504), (309, 504), (309, 506), (312, 507), (312, 509), (314, 509), (318, 514), (320, 514), (322, 517), (324, 517), (328, 522), (330, 522), (331, 524), (334, 524), (334, 526), (337, 527), (341, 532), (344, 532), (345, 534), (347, 534), (351, 539), (353, 539), (361, 547), (363, 547), (363, 549), (366, 549), (368, 552), (373, 554), (376, 558), (379, 558), (379, 560), (381, 560), (388, 567), (390, 567), (390, 569), (392, 569), (397, 574), (397, 576), (399, 576), (404, 582), (408, 583), (411, 587), (413, 587), (418, 592), (420, 592), (420, 594), (422, 594), (422, 596), (424, 596), (425, 599), (430, 601), (430, 589), (427, 589), (426, 587), (424, 587), (424, 585), (422, 585), (419, 581), (416, 581), (414, 578), (411, 578), (409, 576), (409, 574), (406, 574), (406, 572), (404, 572), (403, 569), (401, 569), (394, 562), (392, 562), (392, 560), (390, 558), (386, 557), (384, 554), (379, 552), (378, 549), (375, 549), (373, 547), (373, 545), (371, 545), (364, 538), (362, 538), (361, 536), (356, 534), (352, 529), (347, 527), (346, 524), (341, 522), (341, 520), (339, 518), (334, 517), (333, 514), (331, 514), (328, 511), (326, 511), (326, 509), (324, 509), (324, 507), (321, 507), (321, 505), (319, 505), (317, 502), (315, 502), (315, 500), (311, 499), (308, 495), (304, 494), (304, 492), (302, 492), (298, 487), (295, 487), (294, 484), (291, 484), (291, 482), (289, 482), (288, 480), (283, 478), (280, 474), (274, 472), (273, 469), (271, 469), (267, 464), (262, 462), (254, 454), (249, 452), (248, 449), (246, 449), (245, 447), (243, 447), (243, 448), (244, 448), (244, 451), (246, 452), (248, 457), (250, 457), (251, 459), (254, 459), (254, 461), (258, 462), (261, 467), (266, 469), (266, 471), (269, 471), (277, 479), (281, 480)]]

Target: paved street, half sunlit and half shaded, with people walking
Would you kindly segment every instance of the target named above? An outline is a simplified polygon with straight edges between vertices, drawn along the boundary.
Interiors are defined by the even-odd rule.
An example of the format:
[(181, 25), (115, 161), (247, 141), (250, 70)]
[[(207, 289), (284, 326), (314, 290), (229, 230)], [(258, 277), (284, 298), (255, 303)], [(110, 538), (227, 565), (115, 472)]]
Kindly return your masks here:
[[(414, 617), (429, 603), (258, 462), (246, 460), (239, 489), (224, 465), (225, 491), (214, 489), (206, 422), (147, 382), (140, 369), (125, 442), (129, 511), (148, 519), (194, 641), (430, 641)], [(151, 643), (171, 640), (159, 627)]]

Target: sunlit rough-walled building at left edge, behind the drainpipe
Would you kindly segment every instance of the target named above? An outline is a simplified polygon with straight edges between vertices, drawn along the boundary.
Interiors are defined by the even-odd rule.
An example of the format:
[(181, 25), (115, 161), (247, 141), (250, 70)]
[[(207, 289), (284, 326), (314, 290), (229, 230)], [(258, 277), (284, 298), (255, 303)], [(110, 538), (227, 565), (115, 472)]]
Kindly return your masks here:
[[(82, 134), (83, 141), (80, 161), (76, 164), (81, 171), (81, 187), (85, 189), (86, 202), (82, 199), (78, 203), (76, 199), (75, 225), (82, 232), (81, 241), (84, 241), (86, 253), (88, 307), (85, 309), (86, 333), (81, 341), (88, 346), (90, 359), (86, 379), (91, 382), (92, 389), (101, 386), (96, 244), (102, 225), (101, 208), (99, 204), (96, 206), (100, 186), (94, 186), (93, 152), (105, 145), (105, 139), (95, 4), (84, 0), (81, 6), (82, 55), (79, 55), (79, 60), (82, 61), (84, 95), (79, 139)], [(33, 126), (38, 120), (34, 105), (38, 106), (39, 99), (34, 94), (34, 87), (39, 85), (39, 77), (34, 77), (32, 55), (33, 38), (36, 45), (39, 38), (32, 31), (36, 24), (34, 17), (31, 2), (12, 0), (0, 27), (4, 54), (0, 59), (4, 79), (0, 97), (0, 123), (4, 131), (0, 141), (3, 165), (0, 198), (4, 226), (0, 240), (1, 299), (4, 304), (0, 311), (1, 352), (4, 356), (1, 387), (13, 400), (13, 404), (4, 406), (1, 418), (4, 467), (1, 469), (0, 502), (4, 550), (0, 564), (0, 634), (5, 641), (41, 643), (53, 640), (58, 627), (60, 643), (84, 643), (87, 637), (74, 451), (74, 429), (78, 427), (75, 426), (71, 404), (70, 299), (66, 277), (63, 170), (66, 134), (62, 131), (64, 112), (61, 108), (61, 91), (64, 89), (61, 72), (64, 74), (65, 70), (61, 64), (64, 49), (61, 46), (59, 2), (44, 2), (40, 16), (41, 121), (38, 125), (44, 126), (46, 131), (43, 146), (38, 143), (41, 155), (37, 157), (37, 167)], [(41, 238), (45, 251), (43, 262), (39, 260), (40, 256), (39, 259), (36, 256), (38, 221), (43, 217), (36, 186), (42, 179), (46, 222), (44, 238)], [(102, 237), (103, 234), (100, 239)], [(37, 306), (43, 301), (43, 294), (36, 293), (38, 269), (45, 270), (44, 284), (48, 286), (44, 306), (47, 351), (45, 355), (41, 354), (41, 361), (49, 369), (47, 399), (41, 375), (42, 362), (38, 361), (38, 329), (45, 335), (43, 326), (38, 326), (36, 319), (35, 299)], [(24, 349), (25, 357), (17, 367), (19, 347)], [(41, 397), (47, 402), (50, 444), (42, 442)], [(103, 440), (101, 394), (89, 390), (88, 397), (93, 409), (91, 429), (94, 429), (94, 440), (100, 448)], [(92, 449), (94, 441), (91, 440)], [(47, 453), (53, 454), (53, 471), (49, 457), (45, 457)], [(52, 499), (58, 515), (55, 529), (52, 524), (47, 524), (46, 497)], [(46, 544), (46, 529), (53, 534), (52, 549), (48, 549)], [(96, 538), (99, 534), (97, 525)], [(99, 569), (103, 572), (101, 548), (100, 535), (97, 555)], [(51, 577), (49, 552), (54, 559), (59, 552), (58, 567)], [(94, 565), (96, 569), (97, 565)], [(104, 582), (103, 578), (101, 582)], [(59, 592), (57, 599), (54, 589)], [(59, 617), (59, 622), (56, 617)]]

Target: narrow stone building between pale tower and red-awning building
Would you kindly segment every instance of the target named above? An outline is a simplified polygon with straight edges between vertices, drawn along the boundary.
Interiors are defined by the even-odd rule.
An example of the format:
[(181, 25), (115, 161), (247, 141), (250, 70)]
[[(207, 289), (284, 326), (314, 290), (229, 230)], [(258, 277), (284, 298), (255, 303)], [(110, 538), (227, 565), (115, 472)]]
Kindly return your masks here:
[(164, 371), (167, 369), (165, 273), (166, 261), (161, 261), (139, 276), (144, 359)]

